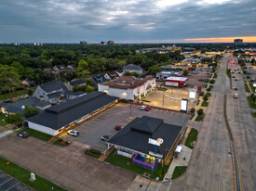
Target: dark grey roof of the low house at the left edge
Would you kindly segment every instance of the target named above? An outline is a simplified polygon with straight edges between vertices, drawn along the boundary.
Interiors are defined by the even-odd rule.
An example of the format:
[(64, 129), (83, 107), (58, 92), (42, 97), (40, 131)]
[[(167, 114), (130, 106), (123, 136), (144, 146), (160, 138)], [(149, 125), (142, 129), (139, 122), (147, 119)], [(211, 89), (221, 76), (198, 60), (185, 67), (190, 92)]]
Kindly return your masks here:
[(21, 108), (22, 106), (39, 106), (39, 107), (45, 107), (50, 105), (47, 101), (41, 101), (40, 99), (36, 97), (30, 97), (26, 99), (21, 99), (20, 101), (16, 101), (14, 103), (3, 103), (0, 105), (0, 107), (4, 107), (7, 109), (8, 112), (11, 113), (20, 113), (20, 115), (24, 116), (24, 110)]

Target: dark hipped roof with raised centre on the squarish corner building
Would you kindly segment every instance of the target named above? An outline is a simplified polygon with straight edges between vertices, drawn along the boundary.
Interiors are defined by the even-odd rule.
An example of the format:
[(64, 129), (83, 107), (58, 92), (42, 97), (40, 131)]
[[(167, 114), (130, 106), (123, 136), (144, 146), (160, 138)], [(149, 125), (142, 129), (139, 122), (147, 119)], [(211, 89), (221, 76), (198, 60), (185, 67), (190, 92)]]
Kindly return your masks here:
[[(164, 144), (157, 146), (157, 154), (164, 154), (164, 146), (169, 150), (181, 133), (182, 126), (165, 123), (163, 120), (143, 116), (136, 118), (115, 134), (108, 143), (123, 146), (132, 150), (149, 154), (155, 152), (155, 146), (148, 144), (148, 139), (162, 138)], [(166, 152), (167, 153), (167, 152)]]

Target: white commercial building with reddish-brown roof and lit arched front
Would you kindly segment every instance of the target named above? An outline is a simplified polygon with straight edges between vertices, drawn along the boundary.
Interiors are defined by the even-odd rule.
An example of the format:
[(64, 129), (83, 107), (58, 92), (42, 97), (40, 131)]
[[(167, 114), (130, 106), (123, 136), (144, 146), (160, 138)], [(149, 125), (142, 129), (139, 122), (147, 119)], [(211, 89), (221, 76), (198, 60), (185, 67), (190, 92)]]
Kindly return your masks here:
[(98, 84), (98, 91), (105, 92), (109, 96), (117, 96), (132, 101), (136, 98), (141, 99), (141, 96), (155, 91), (155, 88), (155, 78), (152, 76), (145, 78), (124, 76), (115, 81)]

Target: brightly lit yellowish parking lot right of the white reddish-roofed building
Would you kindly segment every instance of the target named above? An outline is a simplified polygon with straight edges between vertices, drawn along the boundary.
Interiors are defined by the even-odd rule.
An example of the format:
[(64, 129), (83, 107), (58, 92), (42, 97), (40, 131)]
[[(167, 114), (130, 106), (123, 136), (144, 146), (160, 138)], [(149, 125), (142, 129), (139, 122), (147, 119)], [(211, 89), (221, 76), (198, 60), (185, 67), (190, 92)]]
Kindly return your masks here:
[(188, 110), (195, 108), (195, 99), (188, 98), (189, 89), (188, 87), (177, 88), (177, 87), (166, 87), (167, 91), (156, 91), (147, 95), (144, 100), (150, 102), (143, 102), (155, 107), (169, 108), (174, 110), (180, 110), (182, 104), (182, 98), (188, 99)]

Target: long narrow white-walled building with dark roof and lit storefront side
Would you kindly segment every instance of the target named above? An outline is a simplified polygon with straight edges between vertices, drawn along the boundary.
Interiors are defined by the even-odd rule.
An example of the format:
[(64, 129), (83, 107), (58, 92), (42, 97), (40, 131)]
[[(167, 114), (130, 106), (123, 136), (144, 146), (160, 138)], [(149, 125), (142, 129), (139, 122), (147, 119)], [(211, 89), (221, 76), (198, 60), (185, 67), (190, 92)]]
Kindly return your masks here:
[(47, 108), (44, 113), (26, 121), (31, 129), (56, 135), (114, 106), (118, 102), (117, 99), (118, 97), (108, 96), (102, 92), (92, 92)]

